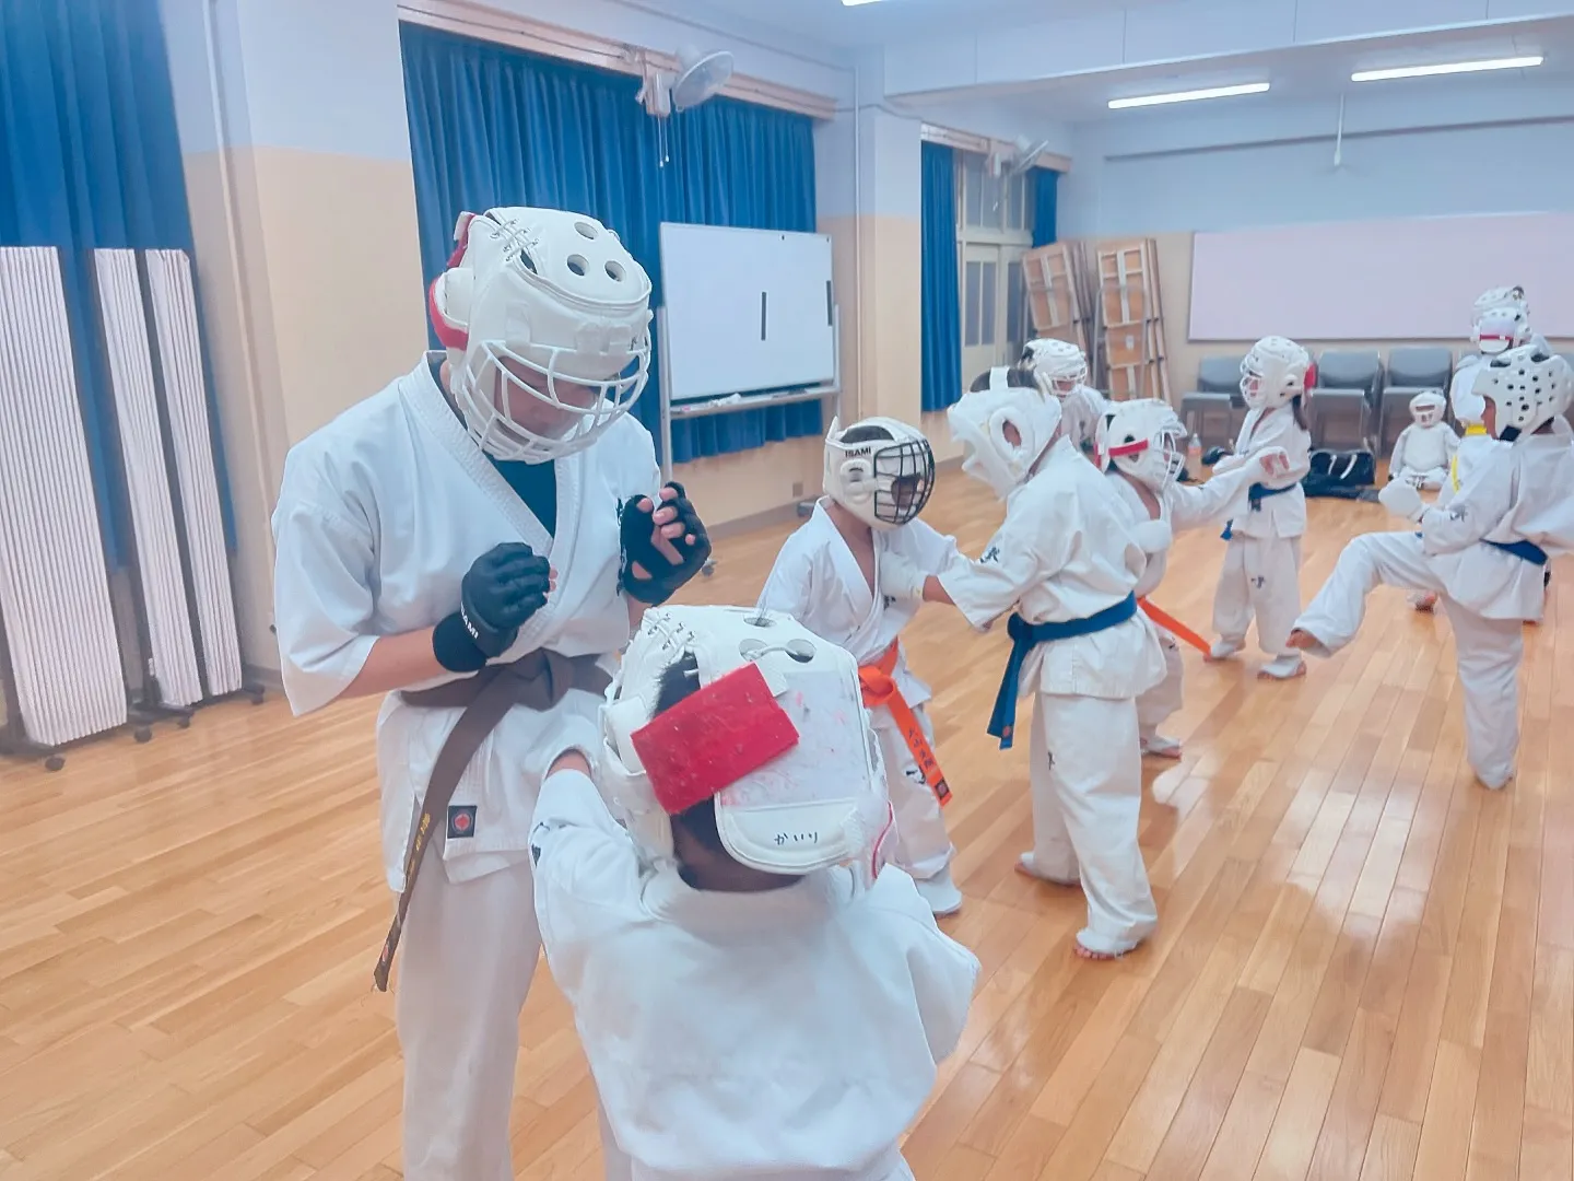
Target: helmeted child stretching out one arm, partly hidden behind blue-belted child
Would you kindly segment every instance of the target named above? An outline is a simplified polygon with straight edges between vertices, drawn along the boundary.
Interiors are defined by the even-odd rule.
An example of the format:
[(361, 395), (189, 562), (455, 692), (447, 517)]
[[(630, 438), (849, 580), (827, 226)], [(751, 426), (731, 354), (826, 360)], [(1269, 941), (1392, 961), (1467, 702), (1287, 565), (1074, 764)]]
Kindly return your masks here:
[[(1289, 468), (1281, 447), (1264, 447), (1251, 461), (1215, 474), (1206, 483), (1177, 483), (1185, 468), (1185, 427), (1168, 402), (1133, 398), (1118, 402), (1099, 428), (1099, 460), (1110, 485), (1119, 494), (1130, 532), (1147, 554), (1147, 565), (1136, 583), (1136, 597), (1146, 600), (1163, 581), (1169, 564), (1169, 539), (1182, 529), (1201, 529), (1217, 521), (1242, 499), (1247, 485), (1278, 477)], [(1184, 666), (1176, 638), (1158, 628), (1165, 649), (1165, 679), (1136, 699), (1136, 723), (1143, 754), (1179, 759), (1180, 743), (1158, 732), (1165, 718), (1180, 709)]]

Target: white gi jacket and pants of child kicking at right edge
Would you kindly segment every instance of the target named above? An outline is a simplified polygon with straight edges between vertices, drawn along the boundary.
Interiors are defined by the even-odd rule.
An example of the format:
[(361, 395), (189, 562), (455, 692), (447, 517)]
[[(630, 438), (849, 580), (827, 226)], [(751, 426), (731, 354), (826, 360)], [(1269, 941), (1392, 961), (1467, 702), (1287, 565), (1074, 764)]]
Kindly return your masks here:
[(1354, 539), (1295, 627), (1335, 652), (1355, 636), (1379, 583), (1439, 594), (1454, 628), (1470, 765), (1502, 787), (1519, 748), (1520, 624), (1541, 616), (1544, 567), (1486, 542), (1574, 553), (1574, 450), (1557, 435), (1532, 435), (1491, 452), (1447, 509), (1426, 510), (1420, 531)]

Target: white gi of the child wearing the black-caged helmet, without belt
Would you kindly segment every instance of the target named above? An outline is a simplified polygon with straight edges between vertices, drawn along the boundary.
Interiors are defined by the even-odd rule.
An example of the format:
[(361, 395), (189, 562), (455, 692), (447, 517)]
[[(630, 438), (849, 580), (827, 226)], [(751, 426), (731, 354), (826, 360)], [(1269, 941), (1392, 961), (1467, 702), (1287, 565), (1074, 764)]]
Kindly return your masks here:
[[(892, 642), (899, 642), (902, 628), (913, 622), (922, 606), (880, 594), (880, 554), (897, 554), (926, 575), (938, 575), (959, 557), (954, 539), (935, 532), (919, 520), (896, 529), (875, 529), (874, 534), (877, 586), (870, 592), (858, 559), (826, 513), (825, 501), (820, 501), (809, 520), (776, 554), (759, 605), (787, 613), (817, 636), (852, 652), (859, 665), (874, 665)], [(900, 644), (891, 679), (933, 745), (935, 731), (924, 709), (932, 693), (929, 685), (913, 676)], [(870, 718), (880, 735), (886, 783), (896, 809), (896, 863), (919, 880), (935, 877), (946, 871), (955, 855), (940, 802), (924, 781), (891, 710), (870, 710)]]

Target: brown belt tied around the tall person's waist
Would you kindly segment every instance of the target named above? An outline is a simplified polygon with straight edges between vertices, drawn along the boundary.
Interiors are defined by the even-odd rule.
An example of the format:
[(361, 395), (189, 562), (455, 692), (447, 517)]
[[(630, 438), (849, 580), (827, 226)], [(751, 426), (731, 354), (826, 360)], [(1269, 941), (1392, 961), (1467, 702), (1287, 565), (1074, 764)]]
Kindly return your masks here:
[(438, 761), (431, 767), (427, 798), (405, 855), (405, 891), (398, 896), (394, 926), (389, 927), (389, 937), (382, 940), (382, 954), (378, 956), (378, 967), (371, 976), (378, 992), (389, 990), (394, 953), (398, 950), (398, 937), (405, 929), (409, 899), (416, 893), (416, 876), (420, 872), (427, 846), (431, 844), (438, 817), (453, 798), (453, 790), (460, 786), (460, 778), (471, 765), (471, 759), (475, 757), (475, 751), (482, 748), (486, 735), (497, 729), (504, 715), (515, 705), (545, 712), (562, 701), (568, 690), (604, 693), (612, 679), (597, 660), (598, 657), (563, 657), (557, 652), (537, 649), (510, 665), (488, 665), (464, 680), (453, 680), (416, 693), (400, 693), (405, 704), (416, 709), (463, 709), (464, 713), (453, 723), (453, 729), (449, 731), (442, 750), (438, 751)]

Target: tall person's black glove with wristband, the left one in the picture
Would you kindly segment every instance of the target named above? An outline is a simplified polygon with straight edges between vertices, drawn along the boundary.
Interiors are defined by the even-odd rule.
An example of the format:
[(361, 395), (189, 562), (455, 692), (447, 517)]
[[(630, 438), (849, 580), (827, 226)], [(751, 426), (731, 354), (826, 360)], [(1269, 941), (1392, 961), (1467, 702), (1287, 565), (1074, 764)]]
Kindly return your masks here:
[(460, 583), (460, 609), (438, 624), (431, 647), (453, 672), (475, 672), (507, 652), (519, 628), (546, 606), (551, 565), (523, 542), (494, 546)]

